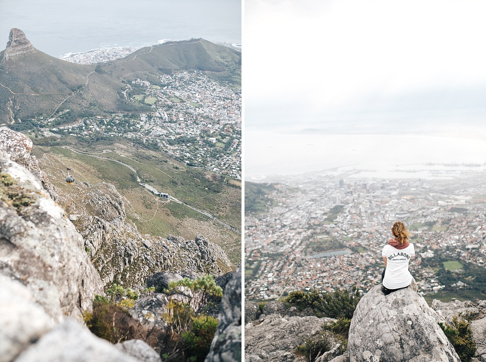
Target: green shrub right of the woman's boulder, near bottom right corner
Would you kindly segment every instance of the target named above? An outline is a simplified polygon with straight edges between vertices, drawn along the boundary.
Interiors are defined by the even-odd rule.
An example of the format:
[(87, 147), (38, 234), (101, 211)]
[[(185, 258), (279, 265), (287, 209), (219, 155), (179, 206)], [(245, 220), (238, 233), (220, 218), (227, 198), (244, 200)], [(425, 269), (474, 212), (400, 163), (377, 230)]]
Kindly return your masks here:
[(470, 362), (476, 354), (476, 342), (472, 339), (471, 321), (472, 313), (461, 312), (452, 317), (452, 324), (439, 323), (462, 362)]

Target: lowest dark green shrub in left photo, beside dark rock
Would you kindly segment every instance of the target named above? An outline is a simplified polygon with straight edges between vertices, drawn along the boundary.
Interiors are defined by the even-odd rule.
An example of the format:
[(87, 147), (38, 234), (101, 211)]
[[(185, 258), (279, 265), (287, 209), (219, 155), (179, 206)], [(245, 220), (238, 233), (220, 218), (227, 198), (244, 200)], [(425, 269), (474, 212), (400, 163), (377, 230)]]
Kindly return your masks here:
[(218, 327), (218, 320), (210, 315), (192, 318), (192, 328), (182, 333), (182, 339), (193, 361), (204, 362), (216, 327)]

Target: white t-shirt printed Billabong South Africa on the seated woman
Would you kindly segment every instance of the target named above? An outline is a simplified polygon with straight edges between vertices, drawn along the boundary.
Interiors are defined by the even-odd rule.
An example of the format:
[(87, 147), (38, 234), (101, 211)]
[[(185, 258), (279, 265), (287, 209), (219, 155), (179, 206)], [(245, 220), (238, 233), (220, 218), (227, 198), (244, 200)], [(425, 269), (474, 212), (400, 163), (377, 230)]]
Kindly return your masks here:
[(391, 245), (383, 247), (382, 256), (386, 258), (386, 271), (383, 286), (388, 289), (404, 288), (412, 282), (412, 274), (408, 271), (408, 262), (415, 255), (414, 245), (397, 249)]

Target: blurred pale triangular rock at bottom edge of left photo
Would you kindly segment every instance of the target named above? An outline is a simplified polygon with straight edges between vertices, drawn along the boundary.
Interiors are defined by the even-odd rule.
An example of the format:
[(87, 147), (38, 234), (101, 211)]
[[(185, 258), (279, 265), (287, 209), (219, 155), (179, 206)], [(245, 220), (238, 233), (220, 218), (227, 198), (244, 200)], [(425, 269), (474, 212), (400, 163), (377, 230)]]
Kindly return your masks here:
[(139, 362), (67, 319), (22, 352), (15, 362)]

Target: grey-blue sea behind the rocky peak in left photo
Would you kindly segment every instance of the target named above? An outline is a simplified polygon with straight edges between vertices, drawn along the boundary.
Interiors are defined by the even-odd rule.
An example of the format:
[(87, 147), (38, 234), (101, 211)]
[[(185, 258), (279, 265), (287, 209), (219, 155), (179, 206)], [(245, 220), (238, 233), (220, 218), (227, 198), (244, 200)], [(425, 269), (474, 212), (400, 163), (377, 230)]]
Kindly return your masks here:
[(11, 28), (59, 57), (163, 39), (241, 42), (241, 0), (1, 0), (0, 48)]

